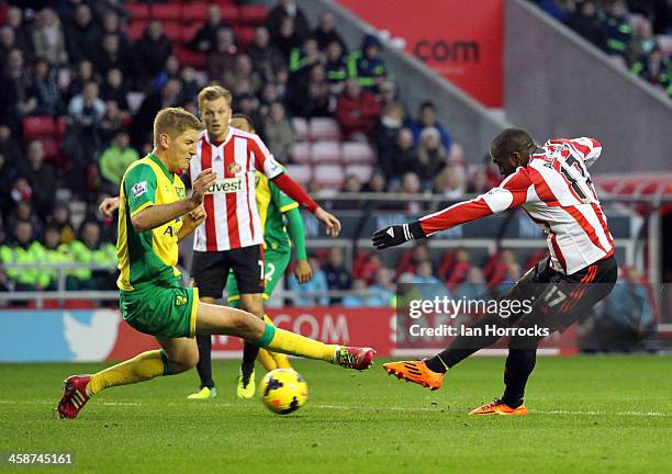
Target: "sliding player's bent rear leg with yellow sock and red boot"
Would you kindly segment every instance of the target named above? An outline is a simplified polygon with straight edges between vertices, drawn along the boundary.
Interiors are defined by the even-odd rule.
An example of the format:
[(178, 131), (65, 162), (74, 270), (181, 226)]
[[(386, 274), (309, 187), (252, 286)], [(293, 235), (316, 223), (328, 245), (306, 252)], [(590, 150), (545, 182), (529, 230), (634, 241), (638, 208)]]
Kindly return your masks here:
[(157, 338), (157, 341), (161, 346), (160, 350), (139, 353), (93, 375), (69, 376), (64, 383), (63, 397), (57, 406), (58, 416), (77, 418), (87, 402), (105, 388), (184, 372), (199, 361), (199, 351), (193, 339)]

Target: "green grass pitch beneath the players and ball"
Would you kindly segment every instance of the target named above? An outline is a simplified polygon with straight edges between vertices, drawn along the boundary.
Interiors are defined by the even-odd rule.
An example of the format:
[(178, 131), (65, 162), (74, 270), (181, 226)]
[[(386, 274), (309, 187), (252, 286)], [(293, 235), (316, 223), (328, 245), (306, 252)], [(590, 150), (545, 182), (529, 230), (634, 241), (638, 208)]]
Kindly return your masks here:
[(287, 417), (236, 399), (237, 364), (216, 362), (214, 400), (186, 399), (193, 371), (109, 390), (76, 420), (55, 418), (61, 381), (102, 364), (4, 364), (0, 451), (70, 451), (75, 465), (54, 469), (94, 473), (670, 472), (671, 357), (540, 358), (530, 415), (485, 418), (467, 413), (501, 394), (502, 359), (464, 361), (438, 392), (380, 363), (295, 361), (310, 399)]

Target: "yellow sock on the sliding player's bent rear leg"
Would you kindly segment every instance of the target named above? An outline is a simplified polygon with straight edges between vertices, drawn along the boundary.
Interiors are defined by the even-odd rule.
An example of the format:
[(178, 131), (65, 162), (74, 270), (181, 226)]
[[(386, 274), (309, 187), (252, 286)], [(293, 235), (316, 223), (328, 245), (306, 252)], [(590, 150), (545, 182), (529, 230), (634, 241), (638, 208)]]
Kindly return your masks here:
[(170, 371), (165, 352), (163, 350), (147, 351), (91, 375), (87, 393), (91, 396), (104, 388), (144, 382), (168, 374)]

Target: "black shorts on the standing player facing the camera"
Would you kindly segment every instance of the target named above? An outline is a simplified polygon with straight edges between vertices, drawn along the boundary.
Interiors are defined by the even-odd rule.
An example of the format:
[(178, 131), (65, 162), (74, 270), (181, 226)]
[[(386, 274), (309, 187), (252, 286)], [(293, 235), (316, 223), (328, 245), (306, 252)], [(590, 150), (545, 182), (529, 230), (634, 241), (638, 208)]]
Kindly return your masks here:
[(236, 276), (240, 294), (264, 293), (262, 246), (193, 252), (191, 276), (200, 296), (221, 298), (229, 270)]

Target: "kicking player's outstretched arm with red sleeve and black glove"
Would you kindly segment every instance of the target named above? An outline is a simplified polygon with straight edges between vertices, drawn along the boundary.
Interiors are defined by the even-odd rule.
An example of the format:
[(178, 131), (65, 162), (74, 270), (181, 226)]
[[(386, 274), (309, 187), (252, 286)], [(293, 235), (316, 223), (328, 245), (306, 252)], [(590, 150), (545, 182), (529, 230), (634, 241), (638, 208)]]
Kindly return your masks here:
[(394, 247), (412, 239), (429, 237), (437, 232), (518, 207), (527, 202), (527, 190), (530, 187), (534, 184), (527, 170), (518, 168), (497, 188), (473, 200), (453, 204), (412, 223), (392, 225), (377, 230), (372, 237), (373, 246), (378, 250)]

